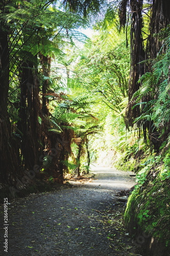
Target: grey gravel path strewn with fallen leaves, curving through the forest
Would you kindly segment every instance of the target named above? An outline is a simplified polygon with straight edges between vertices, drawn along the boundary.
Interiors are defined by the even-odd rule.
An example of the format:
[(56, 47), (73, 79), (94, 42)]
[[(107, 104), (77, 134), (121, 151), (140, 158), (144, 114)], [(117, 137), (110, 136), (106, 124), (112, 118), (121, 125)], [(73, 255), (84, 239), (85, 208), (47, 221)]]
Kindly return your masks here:
[[(10, 202), (8, 252), (2, 230), (0, 255), (140, 255), (124, 229), (125, 203), (116, 196), (132, 187), (134, 178), (101, 166), (92, 166), (92, 173), (85, 182), (72, 180), (57, 191)], [(0, 221), (3, 229), (2, 214)]]

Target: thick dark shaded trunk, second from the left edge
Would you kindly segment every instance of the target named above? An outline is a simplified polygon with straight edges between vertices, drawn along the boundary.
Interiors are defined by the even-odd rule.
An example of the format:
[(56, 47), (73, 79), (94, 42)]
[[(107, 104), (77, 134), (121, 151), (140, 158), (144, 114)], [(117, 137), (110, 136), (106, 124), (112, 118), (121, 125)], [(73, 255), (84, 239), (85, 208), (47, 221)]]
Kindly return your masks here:
[[(38, 66), (37, 57), (32, 56), (33, 61), (25, 61), (21, 67), (21, 90), (19, 130), (22, 133), (21, 153), (26, 169), (32, 169), (38, 164), (40, 155), (40, 116), (39, 83), (36, 74)], [(34, 65), (35, 64), (35, 65)]]

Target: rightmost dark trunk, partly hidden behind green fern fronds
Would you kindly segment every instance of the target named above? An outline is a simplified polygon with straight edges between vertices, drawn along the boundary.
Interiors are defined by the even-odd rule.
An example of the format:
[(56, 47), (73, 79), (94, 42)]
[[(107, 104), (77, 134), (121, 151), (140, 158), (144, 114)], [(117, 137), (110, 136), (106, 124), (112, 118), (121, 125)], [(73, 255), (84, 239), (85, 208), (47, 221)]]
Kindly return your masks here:
[[(164, 0), (153, 0), (152, 4), (152, 11), (151, 11), (151, 19), (150, 19), (150, 35), (148, 37), (147, 41), (147, 47), (146, 47), (146, 55), (147, 59), (154, 59), (156, 58), (158, 52), (163, 46), (162, 39), (158, 36), (155, 36), (155, 34), (160, 33), (161, 29), (166, 28), (166, 26), (170, 22), (170, 15), (168, 12), (169, 9), (169, 1)], [(166, 49), (162, 49), (162, 53)], [(148, 64), (147, 67), (145, 67), (145, 72), (152, 72), (152, 65), (151, 63)], [(158, 84), (157, 84), (158, 86)], [(157, 90), (158, 91), (158, 90)], [(157, 97), (157, 92), (155, 90), (155, 96)], [(150, 101), (152, 100), (151, 97), (147, 96), (147, 98), (143, 98), (142, 101)], [(146, 110), (144, 110), (146, 111)], [(156, 152), (159, 152), (159, 148), (162, 144), (162, 140), (160, 138), (160, 134), (157, 131), (156, 126), (154, 126), (153, 121), (145, 121), (143, 123), (143, 134), (145, 139), (147, 138), (147, 130), (149, 134), (149, 139), (154, 145), (154, 149)]]

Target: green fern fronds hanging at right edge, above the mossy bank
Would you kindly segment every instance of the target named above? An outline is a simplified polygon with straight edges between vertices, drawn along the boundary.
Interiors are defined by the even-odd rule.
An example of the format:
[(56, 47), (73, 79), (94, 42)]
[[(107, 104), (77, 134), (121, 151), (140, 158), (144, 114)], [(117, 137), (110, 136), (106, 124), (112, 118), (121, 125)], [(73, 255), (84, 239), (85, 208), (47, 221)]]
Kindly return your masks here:
[[(154, 127), (156, 127), (157, 133), (160, 135), (160, 144), (163, 142), (162, 140), (165, 140), (165, 138), (169, 136), (169, 26), (157, 36), (163, 38), (164, 44), (157, 57), (152, 60), (152, 72), (145, 73), (140, 78), (139, 82), (142, 82), (142, 86), (133, 94), (132, 99), (136, 101), (136, 106), (140, 105), (142, 113), (135, 119), (135, 122), (143, 122), (144, 124), (145, 120), (147, 120), (151, 123), (151, 126), (153, 127), (153, 136), (155, 134)], [(149, 100), (143, 103), (142, 100), (144, 99)], [(152, 137), (152, 131), (150, 136)]]

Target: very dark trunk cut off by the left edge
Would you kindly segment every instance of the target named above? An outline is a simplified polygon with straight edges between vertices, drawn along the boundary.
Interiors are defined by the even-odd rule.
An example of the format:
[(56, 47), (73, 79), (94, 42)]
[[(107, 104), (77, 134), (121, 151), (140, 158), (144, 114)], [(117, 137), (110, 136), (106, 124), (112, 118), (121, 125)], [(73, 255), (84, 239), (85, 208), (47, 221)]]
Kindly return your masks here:
[(11, 124), (8, 116), (9, 91), (8, 27), (0, 30), (0, 174), (1, 182), (8, 183), (18, 170), (16, 152), (11, 145)]

